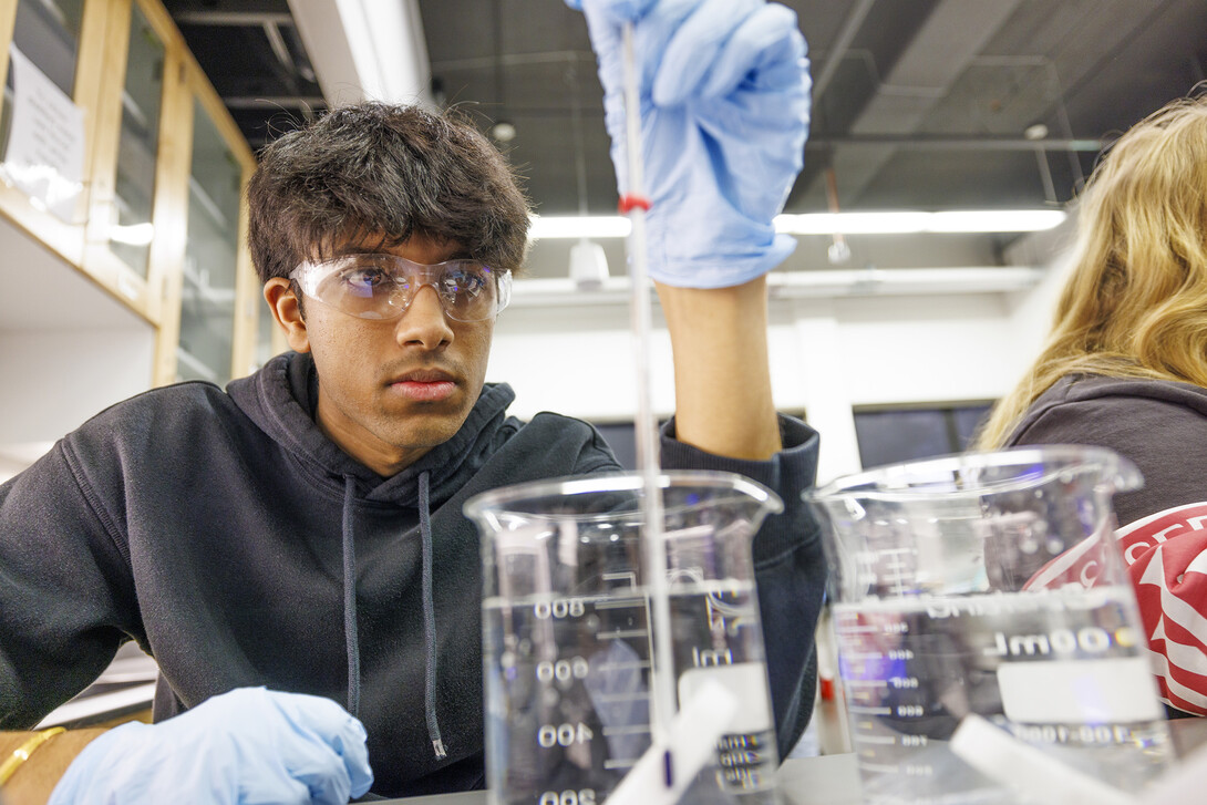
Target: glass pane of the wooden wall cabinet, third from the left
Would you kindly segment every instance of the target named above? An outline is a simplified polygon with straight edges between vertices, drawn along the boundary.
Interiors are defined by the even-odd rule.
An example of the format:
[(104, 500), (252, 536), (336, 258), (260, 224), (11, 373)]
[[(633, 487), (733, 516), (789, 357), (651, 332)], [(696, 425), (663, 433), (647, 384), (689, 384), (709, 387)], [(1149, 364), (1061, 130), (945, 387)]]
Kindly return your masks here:
[(193, 103), (188, 234), (180, 299), (177, 379), (232, 377), (243, 168), (205, 106)]

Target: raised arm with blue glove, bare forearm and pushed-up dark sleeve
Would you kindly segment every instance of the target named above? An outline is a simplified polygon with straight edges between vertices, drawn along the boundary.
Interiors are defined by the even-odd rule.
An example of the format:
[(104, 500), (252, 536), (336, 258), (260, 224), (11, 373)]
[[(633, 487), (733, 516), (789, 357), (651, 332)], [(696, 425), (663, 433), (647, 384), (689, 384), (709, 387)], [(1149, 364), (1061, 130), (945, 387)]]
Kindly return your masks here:
[(782, 757), (812, 712), (824, 576), (817, 525), (800, 501), (816, 476), (817, 434), (775, 415), (764, 279), (795, 245), (772, 218), (804, 162), (805, 41), (795, 14), (765, 0), (567, 2), (587, 14), (622, 192), (622, 43), (634, 25), (649, 275), (675, 356), (678, 443), (664, 438), (664, 466), (739, 472), (785, 503), (753, 542)]

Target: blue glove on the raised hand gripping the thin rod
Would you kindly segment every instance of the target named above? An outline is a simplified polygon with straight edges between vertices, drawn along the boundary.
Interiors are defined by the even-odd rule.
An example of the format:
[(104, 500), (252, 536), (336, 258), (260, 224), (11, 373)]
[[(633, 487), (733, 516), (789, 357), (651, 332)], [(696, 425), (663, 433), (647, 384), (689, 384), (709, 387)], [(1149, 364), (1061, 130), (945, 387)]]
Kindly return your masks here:
[(620, 192), (625, 21), (642, 106), (649, 275), (740, 285), (795, 247), (771, 220), (804, 164), (809, 60), (797, 16), (765, 0), (566, 0), (582, 7), (604, 83)]

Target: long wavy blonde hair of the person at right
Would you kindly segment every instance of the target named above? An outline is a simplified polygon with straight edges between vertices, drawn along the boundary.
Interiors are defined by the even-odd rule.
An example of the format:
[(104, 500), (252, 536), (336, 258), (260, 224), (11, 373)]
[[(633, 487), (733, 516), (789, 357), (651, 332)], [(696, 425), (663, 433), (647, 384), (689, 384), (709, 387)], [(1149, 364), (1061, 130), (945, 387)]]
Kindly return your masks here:
[(975, 447), (1074, 373), (1207, 386), (1207, 97), (1137, 123), (1095, 169), (1053, 331)]

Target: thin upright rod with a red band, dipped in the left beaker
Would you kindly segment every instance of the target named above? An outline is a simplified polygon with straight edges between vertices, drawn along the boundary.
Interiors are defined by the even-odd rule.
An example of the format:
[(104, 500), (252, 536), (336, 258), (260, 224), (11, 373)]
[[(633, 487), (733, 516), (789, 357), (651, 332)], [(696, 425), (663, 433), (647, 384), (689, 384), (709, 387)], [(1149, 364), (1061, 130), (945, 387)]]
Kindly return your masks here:
[(641, 514), (648, 572), (651, 629), (654, 642), (654, 663), (651, 673), (651, 734), (654, 746), (664, 751), (664, 782), (675, 786), (675, 764), (670, 723), (676, 711), (675, 666), (671, 651), (671, 613), (666, 589), (666, 543), (663, 537), (663, 495), (658, 483), (660, 472), (658, 421), (654, 418), (649, 379), (649, 273), (646, 253), (645, 177), (641, 164), (641, 98), (637, 93), (637, 70), (634, 56), (632, 23), (624, 25), (624, 117), (628, 147), (629, 186), (622, 205), (632, 223), (629, 233), (629, 278), (632, 286), (632, 333), (637, 368), (637, 419), (634, 424), (637, 466), (641, 468), (643, 495)]

